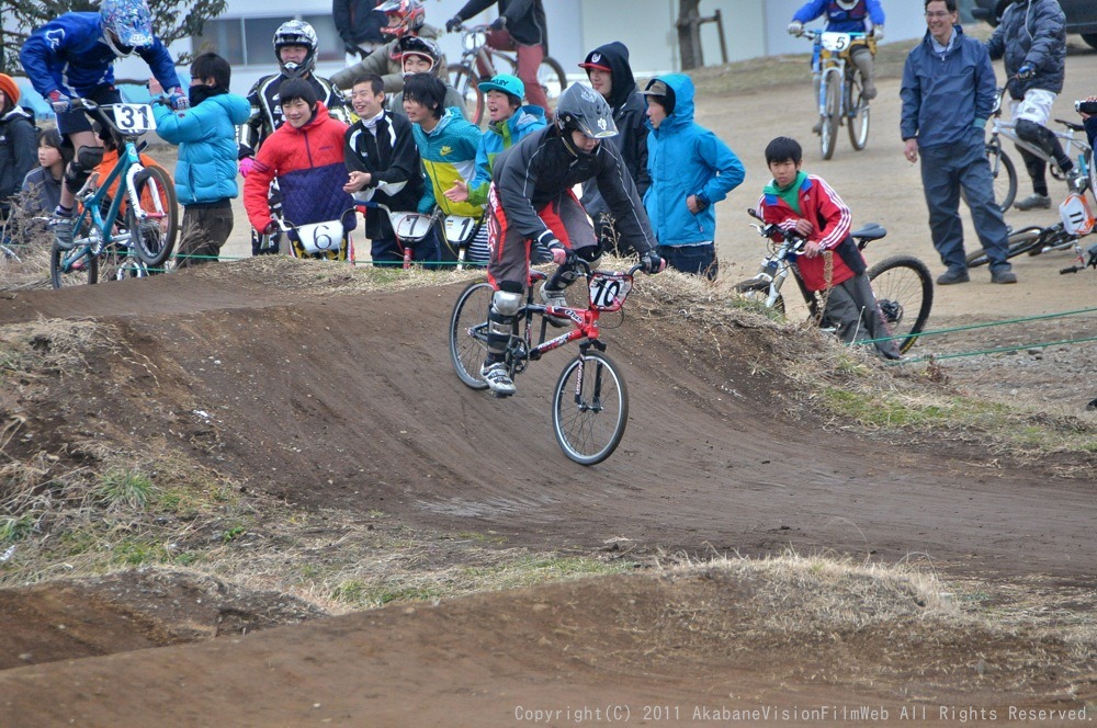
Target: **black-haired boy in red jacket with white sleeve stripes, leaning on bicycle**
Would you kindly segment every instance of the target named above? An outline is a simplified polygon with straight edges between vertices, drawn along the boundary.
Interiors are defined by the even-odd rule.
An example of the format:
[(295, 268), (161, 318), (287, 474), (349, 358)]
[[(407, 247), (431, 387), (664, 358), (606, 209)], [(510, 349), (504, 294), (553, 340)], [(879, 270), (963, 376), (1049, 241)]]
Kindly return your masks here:
[[(864, 258), (849, 235), (849, 207), (823, 178), (800, 169), (803, 150), (795, 139), (770, 141), (766, 163), (773, 180), (762, 191), (758, 211), (767, 223), (807, 238), (796, 270), (808, 291), (822, 293), (824, 316), (838, 327), (838, 337), (851, 343), (892, 335), (877, 307)], [(877, 341), (875, 346), (884, 359), (902, 359), (895, 341)]]

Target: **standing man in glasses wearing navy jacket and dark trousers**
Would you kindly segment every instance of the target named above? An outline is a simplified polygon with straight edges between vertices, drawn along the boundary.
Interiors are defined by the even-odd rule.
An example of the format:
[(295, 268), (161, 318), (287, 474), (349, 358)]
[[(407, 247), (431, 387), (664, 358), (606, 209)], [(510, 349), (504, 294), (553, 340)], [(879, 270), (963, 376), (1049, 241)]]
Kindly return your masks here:
[(921, 156), (921, 183), (934, 247), (948, 270), (939, 285), (966, 283), (968, 263), (960, 218), (960, 190), (975, 232), (991, 261), (991, 283), (1017, 283), (1006, 259), (1009, 232), (994, 201), (984, 127), (994, 109), (996, 83), (986, 48), (964, 35), (955, 0), (926, 0), (921, 43), (903, 68), (900, 129), (904, 155)]

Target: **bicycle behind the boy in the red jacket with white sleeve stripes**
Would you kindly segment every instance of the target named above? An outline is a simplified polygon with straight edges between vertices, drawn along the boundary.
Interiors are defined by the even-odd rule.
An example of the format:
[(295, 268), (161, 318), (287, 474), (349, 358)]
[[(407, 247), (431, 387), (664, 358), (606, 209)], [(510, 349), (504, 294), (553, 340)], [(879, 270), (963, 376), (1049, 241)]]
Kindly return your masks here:
[[(747, 213), (762, 220), (756, 211), (748, 209)], [(735, 291), (783, 316), (785, 305), (781, 287), (792, 273), (812, 318), (821, 328), (835, 328), (819, 309), (819, 294), (812, 293), (803, 285), (795, 266), (791, 263), (791, 259), (804, 250), (807, 239), (796, 235), (795, 231), (784, 230), (765, 220), (761, 225), (754, 224), (751, 227), (757, 229), (761, 237), (769, 239), (769, 253), (762, 260), (758, 274), (737, 283)], [(858, 250), (864, 250), (871, 241), (886, 236), (887, 230), (875, 223), (870, 223), (850, 235), (857, 240)], [(898, 343), (900, 352), (905, 354), (918, 340), (918, 334), (929, 319), (929, 309), (934, 305), (934, 278), (929, 274), (929, 269), (913, 255), (892, 255), (870, 268), (868, 275), (882, 318)]]

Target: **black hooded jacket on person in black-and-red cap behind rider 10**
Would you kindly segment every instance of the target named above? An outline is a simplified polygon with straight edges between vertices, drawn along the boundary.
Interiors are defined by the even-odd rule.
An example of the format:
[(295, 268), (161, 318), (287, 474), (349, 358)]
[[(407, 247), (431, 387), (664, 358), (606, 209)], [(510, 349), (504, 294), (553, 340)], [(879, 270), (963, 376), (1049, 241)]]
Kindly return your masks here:
[[(647, 173), (647, 125), (645, 124), (647, 117), (644, 114), (647, 104), (636, 89), (636, 79), (629, 65), (629, 48), (617, 41), (607, 43), (591, 50), (585, 62), (608, 66), (613, 76), (613, 88), (608, 101), (610, 109), (613, 110), (613, 123), (617, 124), (618, 135), (610, 141), (621, 151), (621, 159), (624, 160), (632, 181), (636, 183), (636, 192), (643, 200), (644, 193), (652, 184), (652, 178)], [(606, 202), (598, 194), (598, 185), (592, 182), (583, 185), (583, 206), (591, 217), (609, 212)]]

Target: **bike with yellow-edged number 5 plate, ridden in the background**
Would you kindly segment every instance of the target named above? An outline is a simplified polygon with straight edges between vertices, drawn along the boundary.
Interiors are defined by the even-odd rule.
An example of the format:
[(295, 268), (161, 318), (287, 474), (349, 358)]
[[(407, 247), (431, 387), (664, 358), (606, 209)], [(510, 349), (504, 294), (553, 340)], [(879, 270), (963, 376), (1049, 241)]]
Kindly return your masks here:
[(869, 143), (869, 100), (864, 98), (861, 71), (850, 52), (867, 44), (877, 53), (875, 38), (866, 33), (806, 30), (801, 35), (813, 44), (812, 72), (819, 77), (819, 151), (834, 156), (838, 127), (846, 125), (849, 143), (860, 151)]

